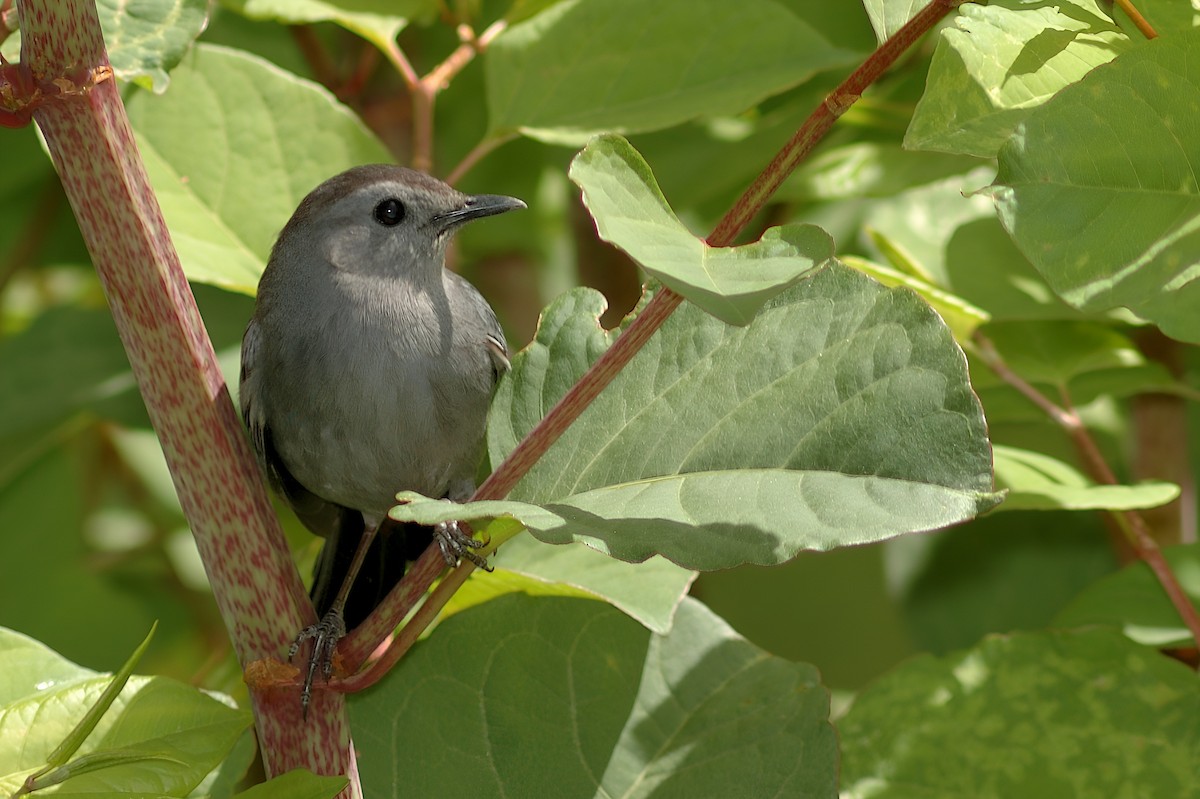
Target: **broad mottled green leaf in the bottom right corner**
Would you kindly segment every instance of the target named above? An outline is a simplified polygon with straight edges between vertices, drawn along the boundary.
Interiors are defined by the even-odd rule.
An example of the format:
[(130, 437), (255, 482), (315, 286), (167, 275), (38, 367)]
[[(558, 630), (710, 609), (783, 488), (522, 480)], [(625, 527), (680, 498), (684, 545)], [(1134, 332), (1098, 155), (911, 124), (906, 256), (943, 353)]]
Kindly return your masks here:
[(1108, 630), (918, 657), (838, 725), (841, 795), (1196, 797), (1200, 683)]

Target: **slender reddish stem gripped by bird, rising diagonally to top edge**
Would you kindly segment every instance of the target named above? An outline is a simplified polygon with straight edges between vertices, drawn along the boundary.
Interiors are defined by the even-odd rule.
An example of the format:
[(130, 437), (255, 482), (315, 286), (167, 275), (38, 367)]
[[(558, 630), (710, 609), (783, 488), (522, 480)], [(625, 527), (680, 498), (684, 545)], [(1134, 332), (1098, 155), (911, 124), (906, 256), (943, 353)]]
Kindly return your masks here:
[[(716, 228), (708, 236), (708, 244), (714, 247), (728, 246), (734, 238), (749, 223), (749, 221), (767, 204), (770, 196), (784, 182), (788, 174), (804, 160), (812, 145), (820, 140), (834, 120), (852, 106), (862, 92), (874, 80), (878, 79), (887, 68), (895, 62), (905, 49), (928, 32), (946, 13), (960, 5), (962, 0), (934, 0), (908, 24), (895, 32), (884, 42), (866, 61), (863, 62), (842, 84), (829, 95), (824, 104), (815, 110), (811, 116), (800, 126), (792, 139), (784, 145), (762, 174), (754, 181), (751, 187), (734, 203), (728, 214), (718, 223)], [(488, 29), (491, 30), (491, 29)], [(498, 31), (497, 31), (498, 32)], [(482, 40), (484, 37), (480, 37)], [(836, 109), (836, 113), (834, 113)], [(629, 328), (613, 342), (604, 355), (583, 374), (578, 383), (551, 408), (550, 413), (538, 422), (538, 425), (526, 435), (516, 449), (509, 453), (503, 463), (484, 481), (472, 497), (479, 499), (503, 499), (521, 481), (529, 469), (541, 458), (542, 455), (558, 440), (568, 427), (582, 414), (592, 401), (612, 382), (622, 368), (636, 355), (642, 346), (649, 341), (650, 336), (670, 318), (683, 299), (674, 292), (662, 288), (654, 299), (637, 314), (637, 318)], [(434, 547), (436, 548), (436, 547)], [(430, 565), (427, 559), (432, 558), (430, 552), (418, 561), (418, 564)], [(432, 569), (432, 565), (430, 565)], [(401, 635), (392, 642), (392, 648), (398, 653), (390, 651), (377, 661), (364, 674), (356, 674), (341, 681), (341, 686), (350, 690), (359, 690), (377, 681), (390, 665), (395, 663), (400, 655), (412, 645), (412, 642), (425, 630), (425, 627), (437, 617), (450, 595), (467, 579), (474, 566), (468, 561), (455, 569), (443, 582), (445, 590), (439, 585), (434, 595), (430, 596), (420, 607), (416, 614), (404, 625)], [(354, 630), (343, 639), (340, 653), (353, 653), (346, 660), (350, 663), (360, 663), (361, 659), (378, 647), (392, 631), (398, 619), (402, 619), (412, 608), (413, 597), (424, 595), (436, 573), (427, 571), (410, 570), (391, 594), (376, 608), (371, 619), (366, 624)], [(377, 619), (389, 619), (392, 626), (380, 623)], [(407, 643), (406, 643), (407, 642)]]

